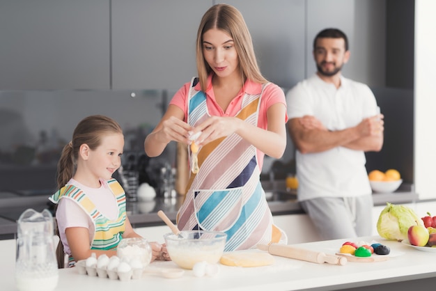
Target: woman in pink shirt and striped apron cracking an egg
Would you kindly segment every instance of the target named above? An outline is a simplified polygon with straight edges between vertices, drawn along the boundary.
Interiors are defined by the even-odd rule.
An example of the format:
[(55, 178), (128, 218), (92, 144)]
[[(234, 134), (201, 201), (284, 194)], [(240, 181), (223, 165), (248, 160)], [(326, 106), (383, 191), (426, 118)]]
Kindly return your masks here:
[(286, 148), (285, 95), (260, 74), (237, 9), (218, 4), (203, 15), (196, 59), (198, 78), (180, 88), (144, 141), (155, 157), (170, 141), (194, 140), (178, 228), (224, 231), (226, 251), (286, 242), (260, 184), (264, 155), (280, 158)]

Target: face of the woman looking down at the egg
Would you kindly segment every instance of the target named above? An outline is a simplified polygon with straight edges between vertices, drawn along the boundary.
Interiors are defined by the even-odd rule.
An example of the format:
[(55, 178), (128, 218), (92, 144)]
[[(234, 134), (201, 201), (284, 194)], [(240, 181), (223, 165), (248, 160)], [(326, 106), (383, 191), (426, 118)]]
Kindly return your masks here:
[(226, 32), (209, 29), (203, 33), (203, 55), (218, 77), (240, 76), (238, 52), (233, 39)]

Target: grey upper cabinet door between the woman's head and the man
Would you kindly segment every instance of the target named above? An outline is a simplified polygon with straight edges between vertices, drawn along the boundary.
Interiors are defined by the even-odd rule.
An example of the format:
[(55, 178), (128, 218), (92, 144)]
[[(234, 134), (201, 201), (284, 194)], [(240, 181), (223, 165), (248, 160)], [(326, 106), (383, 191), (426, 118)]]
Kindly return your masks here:
[(290, 88), (304, 79), (306, 47), (306, 0), (217, 1), (240, 10), (251, 33), (263, 75)]

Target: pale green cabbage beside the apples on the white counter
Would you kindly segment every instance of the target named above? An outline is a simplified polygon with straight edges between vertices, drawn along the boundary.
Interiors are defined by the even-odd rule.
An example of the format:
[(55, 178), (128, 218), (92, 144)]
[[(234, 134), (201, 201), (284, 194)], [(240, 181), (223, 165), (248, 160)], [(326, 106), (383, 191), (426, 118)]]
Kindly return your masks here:
[(410, 226), (422, 225), (423, 221), (414, 210), (404, 205), (387, 203), (377, 221), (377, 232), (386, 239), (407, 239)]

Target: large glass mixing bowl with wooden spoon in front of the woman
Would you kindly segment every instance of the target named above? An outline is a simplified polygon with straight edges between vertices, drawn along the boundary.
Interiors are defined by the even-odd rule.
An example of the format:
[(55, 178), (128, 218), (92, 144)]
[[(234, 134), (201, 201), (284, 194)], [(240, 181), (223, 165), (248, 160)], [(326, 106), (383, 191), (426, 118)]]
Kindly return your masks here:
[(206, 230), (182, 230), (180, 235), (164, 235), (166, 249), (173, 262), (183, 269), (192, 269), (196, 262), (219, 262), (226, 245), (226, 233)]

